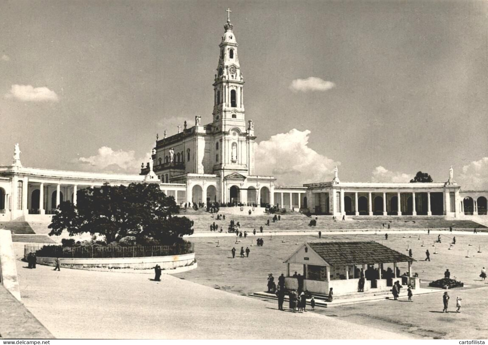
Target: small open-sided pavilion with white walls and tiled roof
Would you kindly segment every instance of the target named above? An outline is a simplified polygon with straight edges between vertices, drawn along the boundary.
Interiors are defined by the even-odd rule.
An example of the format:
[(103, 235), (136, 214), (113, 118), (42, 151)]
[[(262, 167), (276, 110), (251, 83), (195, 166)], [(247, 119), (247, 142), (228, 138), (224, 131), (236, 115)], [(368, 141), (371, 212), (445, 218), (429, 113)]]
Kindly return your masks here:
[[(374, 241), (305, 242), (285, 260), (285, 288), (320, 294), (327, 294), (330, 288), (334, 294), (388, 289), (394, 281), (402, 281), (397, 263), (407, 262), (408, 272), (403, 280), (412, 289), (419, 289), (420, 279), (412, 276), (413, 261)], [(290, 276), (290, 264), (303, 265), (303, 275)], [(392, 264), (393, 269), (385, 270), (386, 264)]]

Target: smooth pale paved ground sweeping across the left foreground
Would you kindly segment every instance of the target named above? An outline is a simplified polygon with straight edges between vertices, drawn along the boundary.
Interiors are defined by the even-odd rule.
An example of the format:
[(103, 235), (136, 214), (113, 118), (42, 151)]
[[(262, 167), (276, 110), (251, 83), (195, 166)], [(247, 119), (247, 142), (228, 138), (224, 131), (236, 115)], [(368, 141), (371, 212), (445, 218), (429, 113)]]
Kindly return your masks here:
[(58, 338), (403, 338), (318, 313), (278, 311), (170, 275), (156, 283), (147, 274), (22, 266), (23, 302)]

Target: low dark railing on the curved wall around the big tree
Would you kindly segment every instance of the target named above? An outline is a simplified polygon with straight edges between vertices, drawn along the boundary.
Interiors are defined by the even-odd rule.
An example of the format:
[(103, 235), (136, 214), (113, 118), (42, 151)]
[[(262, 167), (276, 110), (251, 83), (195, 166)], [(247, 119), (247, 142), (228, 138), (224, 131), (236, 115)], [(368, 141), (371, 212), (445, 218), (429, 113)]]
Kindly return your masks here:
[(35, 252), (36, 255), (40, 257), (65, 258), (169, 256), (195, 252), (193, 243), (149, 247), (62, 247), (60, 245), (26, 245), (25, 251), (30, 253)]

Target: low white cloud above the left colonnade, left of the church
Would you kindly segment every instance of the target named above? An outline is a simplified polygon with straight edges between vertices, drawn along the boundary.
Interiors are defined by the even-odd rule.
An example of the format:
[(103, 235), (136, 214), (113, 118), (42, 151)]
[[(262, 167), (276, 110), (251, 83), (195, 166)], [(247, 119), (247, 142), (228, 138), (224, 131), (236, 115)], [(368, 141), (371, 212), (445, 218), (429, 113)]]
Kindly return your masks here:
[(98, 154), (90, 157), (80, 157), (77, 163), (89, 170), (99, 172), (114, 173), (134, 173), (140, 172), (141, 163), (149, 162), (151, 153), (148, 152), (143, 158), (136, 158), (134, 151), (114, 151), (111, 147), (102, 146), (98, 149)]

